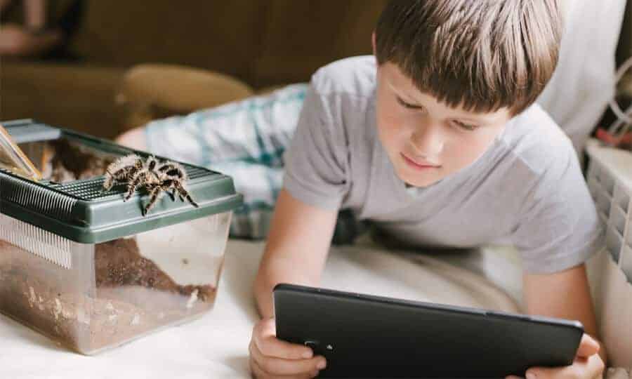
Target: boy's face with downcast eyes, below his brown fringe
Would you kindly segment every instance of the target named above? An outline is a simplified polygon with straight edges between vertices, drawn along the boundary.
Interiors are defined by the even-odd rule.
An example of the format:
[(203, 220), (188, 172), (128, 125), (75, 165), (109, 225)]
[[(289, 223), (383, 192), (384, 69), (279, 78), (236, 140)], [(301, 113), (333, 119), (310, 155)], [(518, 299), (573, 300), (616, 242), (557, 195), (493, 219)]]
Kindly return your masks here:
[(397, 65), (377, 69), (379, 138), (395, 173), (426, 187), (472, 164), (511, 119), (507, 108), (473, 113), (419, 91)]

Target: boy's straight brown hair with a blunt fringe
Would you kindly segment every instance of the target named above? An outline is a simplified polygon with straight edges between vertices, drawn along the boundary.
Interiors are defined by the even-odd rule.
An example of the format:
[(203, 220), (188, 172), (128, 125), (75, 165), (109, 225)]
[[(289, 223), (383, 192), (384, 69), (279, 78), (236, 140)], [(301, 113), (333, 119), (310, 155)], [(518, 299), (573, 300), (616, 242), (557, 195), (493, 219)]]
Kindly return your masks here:
[(518, 114), (558, 61), (559, 0), (392, 0), (376, 27), (379, 65), (392, 62), (451, 107)]

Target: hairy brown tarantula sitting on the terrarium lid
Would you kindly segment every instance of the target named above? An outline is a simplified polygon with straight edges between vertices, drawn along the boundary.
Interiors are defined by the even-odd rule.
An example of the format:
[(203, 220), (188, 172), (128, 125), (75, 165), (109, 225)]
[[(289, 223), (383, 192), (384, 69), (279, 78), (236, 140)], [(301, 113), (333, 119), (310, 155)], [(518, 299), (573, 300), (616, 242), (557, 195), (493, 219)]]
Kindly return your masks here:
[(123, 201), (127, 201), (138, 187), (144, 186), (150, 193), (150, 201), (143, 208), (143, 215), (146, 215), (163, 192), (168, 193), (173, 201), (176, 201), (177, 192), (180, 201), (187, 199), (192, 206), (198, 208), (184, 187), (187, 180), (187, 172), (176, 162), (159, 161), (156, 157), (143, 159), (136, 154), (130, 154), (107, 166), (103, 189), (109, 191), (114, 184), (124, 183), (127, 185), (127, 193)]

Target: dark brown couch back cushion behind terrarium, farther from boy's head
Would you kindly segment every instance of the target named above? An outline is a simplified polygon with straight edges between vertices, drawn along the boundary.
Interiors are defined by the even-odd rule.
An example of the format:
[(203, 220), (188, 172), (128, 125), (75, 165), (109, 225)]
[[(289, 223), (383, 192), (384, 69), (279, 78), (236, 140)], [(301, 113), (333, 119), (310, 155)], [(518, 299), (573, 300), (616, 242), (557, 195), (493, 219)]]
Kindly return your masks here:
[(173, 63), (249, 79), (264, 21), (263, 1), (89, 1), (72, 50), (100, 65)]

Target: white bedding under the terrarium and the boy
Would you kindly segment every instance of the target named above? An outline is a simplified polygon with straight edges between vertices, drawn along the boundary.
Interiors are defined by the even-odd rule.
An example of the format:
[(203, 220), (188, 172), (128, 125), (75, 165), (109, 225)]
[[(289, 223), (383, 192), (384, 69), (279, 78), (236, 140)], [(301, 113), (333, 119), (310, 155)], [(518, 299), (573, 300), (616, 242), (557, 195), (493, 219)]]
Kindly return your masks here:
[[(95, 357), (64, 350), (1, 317), (0, 377), (250, 378), (247, 347), (258, 317), (251, 283), (262, 249), (261, 243), (229, 241), (216, 307), (209, 314)], [(516, 299), (520, 298), (520, 267), (511, 251), (488, 248), (437, 257), (382, 251), (366, 244), (333, 248), (322, 285), (453, 305), (519, 310)], [(500, 285), (508, 291), (501, 290)], [(625, 371), (611, 374), (612, 379), (628, 379)]]

